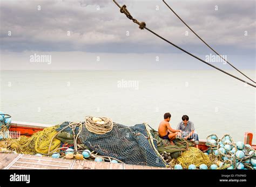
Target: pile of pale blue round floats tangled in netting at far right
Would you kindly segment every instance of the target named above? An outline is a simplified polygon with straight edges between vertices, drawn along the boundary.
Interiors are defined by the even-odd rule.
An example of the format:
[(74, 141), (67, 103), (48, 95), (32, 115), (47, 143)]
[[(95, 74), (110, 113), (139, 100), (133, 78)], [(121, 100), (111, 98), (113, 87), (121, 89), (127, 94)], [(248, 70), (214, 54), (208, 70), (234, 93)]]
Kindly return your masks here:
[(216, 134), (207, 136), (209, 147), (205, 154), (218, 166), (218, 169), (256, 169), (256, 153), (251, 145), (234, 142), (229, 134), (221, 139)]

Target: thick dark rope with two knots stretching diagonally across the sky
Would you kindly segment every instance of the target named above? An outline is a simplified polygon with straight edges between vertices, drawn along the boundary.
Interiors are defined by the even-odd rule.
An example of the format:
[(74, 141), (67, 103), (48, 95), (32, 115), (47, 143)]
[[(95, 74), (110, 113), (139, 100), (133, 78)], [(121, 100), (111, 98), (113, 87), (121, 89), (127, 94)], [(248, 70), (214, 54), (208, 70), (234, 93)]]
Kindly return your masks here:
[[(215, 69), (217, 69), (217, 70), (219, 70), (219, 71), (221, 71), (221, 72), (223, 72), (223, 73), (225, 73), (225, 74), (227, 74), (227, 75), (229, 75), (229, 76), (231, 76), (231, 77), (233, 77), (233, 78), (236, 78), (237, 80), (239, 80), (239, 81), (241, 81), (241, 82), (244, 82), (244, 83), (246, 83), (246, 84), (248, 84), (248, 85), (251, 85), (252, 87), (256, 88), (255, 85), (253, 85), (253, 84), (251, 84), (251, 83), (248, 83), (248, 82), (242, 80), (241, 78), (239, 78), (239, 77), (237, 77), (237, 76), (234, 76), (234, 75), (232, 75), (232, 74), (230, 74), (230, 73), (227, 73), (226, 71), (224, 71), (224, 70), (222, 70), (222, 69), (220, 69), (220, 68), (218, 68), (218, 67), (213, 66), (212, 64), (210, 64), (210, 63), (208, 63), (208, 62), (206, 62), (206, 61), (200, 59), (200, 58), (197, 57), (196, 55), (193, 55), (192, 53), (187, 52), (185, 49), (183, 49), (183, 48), (181, 48), (181, 47), (179, 47), (179, 46), (173, 44), (171, 41), (169, 41), (169, 40), (167, 40), (167, 39), (161, 37), (159, 34), (157, 34), (157, 33), (153, 32), (153, 31), (151, 31), (149, 28), (146, 27), (145, 22), (141, 22), (141, 23), (140, 23), (139, 21), (137, 21), (136, 19), (134, 19), (134, 18), (131, 16), (130, 12), (126, 9), (126, 6), (125, 6), (125, 5), (120, 6), (120, 5), (116, 2), (116, 0), (113, 0), (113, 2), (116, 3), (116, 5), (120, 8), (120, 12), (121, 12), (121, 13), (124, 13), (127, 18), (131, 19), (134, 23), (138, 24), (140, 29), (144, 29), (144, 28), (145, 28), (145, 30), (147, 30), (147, 31), (151, 32), (152, 34), (156, 35), (158, 38), (160, 38), (160, 39), (166, 41), (167, 43), (169, 43), (169, 44), (171, 44), (172, 46), (174, 46), (174, 47), (180, 49), (181, 51), (187, 53), (188, 55), (193, 56), (194, 58), (200, 60), (201, 62), (206, 63), (208, 66), (211, 66), (211, 67), (213, 67), (213, 68), (215, 68)], [(126, 10), (126, 11), (124, 11), (124, 10)], [(134, 20), (136, 20), (136, 21), (134, 21)], [(143, 27), (143, 28), (142, 28), (142, 27)]]

